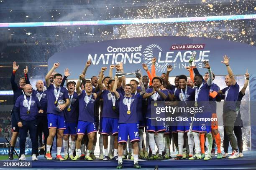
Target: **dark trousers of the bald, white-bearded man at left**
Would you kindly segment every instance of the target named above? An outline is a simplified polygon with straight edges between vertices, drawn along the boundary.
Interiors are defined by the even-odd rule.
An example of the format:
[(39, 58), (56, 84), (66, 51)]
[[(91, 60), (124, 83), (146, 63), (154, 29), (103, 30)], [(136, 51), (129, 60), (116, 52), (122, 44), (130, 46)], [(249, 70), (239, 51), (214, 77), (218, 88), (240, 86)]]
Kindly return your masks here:
[(37, 128), (35, 120), (21, 120), (23, 127), (20, 128), (20, 155), (25, 154), (26, 138), (29, 132), (32, 143), (32, 155), (38, 153)]

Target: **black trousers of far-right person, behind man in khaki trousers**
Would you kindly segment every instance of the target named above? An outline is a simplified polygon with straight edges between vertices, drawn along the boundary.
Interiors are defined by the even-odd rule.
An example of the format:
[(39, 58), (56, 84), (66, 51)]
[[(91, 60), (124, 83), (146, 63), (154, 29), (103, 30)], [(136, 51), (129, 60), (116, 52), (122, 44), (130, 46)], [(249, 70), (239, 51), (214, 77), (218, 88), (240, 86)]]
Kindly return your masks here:
[[(236, 135), (239, 153), (243, 153), (242, 126), (234, 126), (234, 133)], [(229, 145), (228, 135), (226, 134), (226, 131), (224, 128), (223, 148), (225, 153), (228, 153), (228, 145)]]

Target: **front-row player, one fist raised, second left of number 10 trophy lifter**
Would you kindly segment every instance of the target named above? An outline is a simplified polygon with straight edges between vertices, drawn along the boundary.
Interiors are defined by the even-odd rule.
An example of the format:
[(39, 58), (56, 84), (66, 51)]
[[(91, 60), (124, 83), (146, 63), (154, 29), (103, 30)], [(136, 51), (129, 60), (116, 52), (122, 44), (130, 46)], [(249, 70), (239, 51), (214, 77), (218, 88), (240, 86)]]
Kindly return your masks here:
[(92, 94), (92, 83), (89, 81), (84, 85), (84, 90), (80, 90), (79, 87), (83, 78), (83, 74), (79, 75), (79, 80), (77, 81), (76, 85), (79, 100), (79, 117), (77, 124), (76, 156), (72, 160), (78, 160), (81, 155), (80, 147), (84, 134), (87, 134), (89, 139), (85, 160), (93, 160), (90, 157), (90, 153), (93, 147), (94, 136), (97, 132), (94, 120), (96, 94)]

